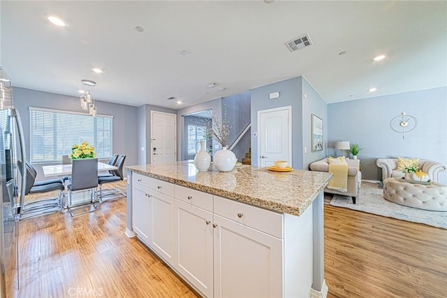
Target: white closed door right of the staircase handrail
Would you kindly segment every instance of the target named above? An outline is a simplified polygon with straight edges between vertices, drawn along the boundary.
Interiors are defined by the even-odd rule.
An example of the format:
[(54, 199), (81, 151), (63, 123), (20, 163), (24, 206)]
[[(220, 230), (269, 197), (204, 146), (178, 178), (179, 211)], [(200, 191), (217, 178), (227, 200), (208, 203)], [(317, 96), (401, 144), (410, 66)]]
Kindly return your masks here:
[(258, 111), (259, 166), (287, 160), (292, 166), (292, 107)]

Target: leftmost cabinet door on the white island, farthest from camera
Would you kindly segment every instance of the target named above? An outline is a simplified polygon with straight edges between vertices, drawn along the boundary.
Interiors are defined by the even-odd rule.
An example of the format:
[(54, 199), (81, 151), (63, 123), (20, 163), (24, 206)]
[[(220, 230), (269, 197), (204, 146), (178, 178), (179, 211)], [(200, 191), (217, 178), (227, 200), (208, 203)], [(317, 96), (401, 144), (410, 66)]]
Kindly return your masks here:
[(149, 245), (151, 198), (149, 188), (134, 185), (132, 190), (132, 224), (133, 231), (139, 238)]

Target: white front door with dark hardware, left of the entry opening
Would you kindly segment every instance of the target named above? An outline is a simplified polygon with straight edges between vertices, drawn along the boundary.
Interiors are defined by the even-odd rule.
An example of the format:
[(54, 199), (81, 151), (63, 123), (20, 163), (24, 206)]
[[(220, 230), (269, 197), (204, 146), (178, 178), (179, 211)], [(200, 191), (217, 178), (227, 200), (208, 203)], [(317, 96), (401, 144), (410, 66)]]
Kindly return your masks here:
[(151, 163), (177, 160), (177, 115), (151, 112)]

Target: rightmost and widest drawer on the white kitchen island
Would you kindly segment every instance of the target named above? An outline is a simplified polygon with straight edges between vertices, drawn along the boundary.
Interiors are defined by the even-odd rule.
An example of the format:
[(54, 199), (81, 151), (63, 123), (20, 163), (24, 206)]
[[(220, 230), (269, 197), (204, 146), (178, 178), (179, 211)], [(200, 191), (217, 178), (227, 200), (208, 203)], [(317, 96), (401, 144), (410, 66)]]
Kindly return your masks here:
[(214, 213), (282, 239), (282, 214), (214, 196)]

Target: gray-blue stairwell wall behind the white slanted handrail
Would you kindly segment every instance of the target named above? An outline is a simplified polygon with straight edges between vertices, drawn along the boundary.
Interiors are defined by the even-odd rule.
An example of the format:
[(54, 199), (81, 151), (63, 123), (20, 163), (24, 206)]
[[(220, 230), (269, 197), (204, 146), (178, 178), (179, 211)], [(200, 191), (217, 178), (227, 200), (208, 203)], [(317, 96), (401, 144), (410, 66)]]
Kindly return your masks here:
[[(250, 101), (249, 91), (222, 98), (222, 118), (231, 125), (228, 134), (228, 147), (233, 145), (251, 122)], [(232, 150), (238, 161), (242, 162), (242, 158), (245, 157), (245, 153), (249, 152), (250, 146), (251, 132), (249, 131)]]

